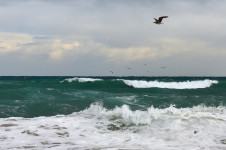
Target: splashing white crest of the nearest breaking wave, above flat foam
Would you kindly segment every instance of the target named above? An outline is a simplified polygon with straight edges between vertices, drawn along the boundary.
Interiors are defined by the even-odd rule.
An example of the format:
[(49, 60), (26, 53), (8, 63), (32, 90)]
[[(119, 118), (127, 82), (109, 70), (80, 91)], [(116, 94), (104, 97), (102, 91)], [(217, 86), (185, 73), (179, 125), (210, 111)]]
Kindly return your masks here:
[(176, 108), (175, 105), (171, 105), (164, 109), (151, 106), (147, 111), (132, 111), (128, 105), (108, 110), (101, 103), (97, 102), (91, 104), (89, 108), (72, 115), (96, 116), (97, 118), (106, 118), (117, 123), (121, 120), (121, 123), (123, 122), (127, 127), (131, 125), (150, 125), (153, 124), (153, 121), (167, 119), (190, 120), (203, 118), (222, 120), (226, 123), (226, 107), (224, 106), (206, 107), (204, 105), (198, 105), (192, 108)]

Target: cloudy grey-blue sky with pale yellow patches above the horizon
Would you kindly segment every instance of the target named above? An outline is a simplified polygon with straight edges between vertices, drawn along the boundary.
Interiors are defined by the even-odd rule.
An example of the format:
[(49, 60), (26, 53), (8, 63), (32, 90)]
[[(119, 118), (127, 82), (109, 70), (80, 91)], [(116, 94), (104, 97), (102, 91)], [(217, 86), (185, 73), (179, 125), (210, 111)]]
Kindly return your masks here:
[[(0, 76), (226, 76), (225, 7), (223, 0), (0, 0)], [(169, 17), (156, 25), (159, 16)]]

